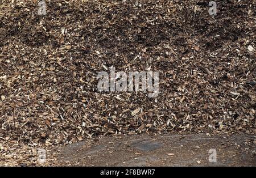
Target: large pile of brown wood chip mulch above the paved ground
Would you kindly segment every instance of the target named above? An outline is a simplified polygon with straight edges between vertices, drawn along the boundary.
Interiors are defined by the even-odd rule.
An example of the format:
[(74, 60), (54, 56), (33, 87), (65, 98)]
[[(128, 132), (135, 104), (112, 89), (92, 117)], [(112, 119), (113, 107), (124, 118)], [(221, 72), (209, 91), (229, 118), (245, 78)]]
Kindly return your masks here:
[[(0, 165), (106, 134), (255, 134), (256, 3), (216, 2), (1, 0)], [(159, 71), (158, 97), (98, 92), (111, 66)]]

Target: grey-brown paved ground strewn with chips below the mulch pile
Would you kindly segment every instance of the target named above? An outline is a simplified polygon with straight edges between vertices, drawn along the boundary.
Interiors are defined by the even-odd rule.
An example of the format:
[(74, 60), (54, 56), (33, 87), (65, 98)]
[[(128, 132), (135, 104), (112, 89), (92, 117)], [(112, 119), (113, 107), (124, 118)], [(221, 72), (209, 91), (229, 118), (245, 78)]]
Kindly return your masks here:
[[(255, 143), (255, 135), (244, 134), (104, 137), (62, 148), (58, 161), (65, 166), (256, 166)], [(209, 162), (210, 149), (217, 162)]]

